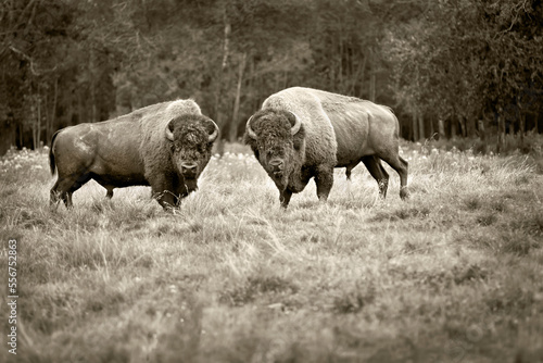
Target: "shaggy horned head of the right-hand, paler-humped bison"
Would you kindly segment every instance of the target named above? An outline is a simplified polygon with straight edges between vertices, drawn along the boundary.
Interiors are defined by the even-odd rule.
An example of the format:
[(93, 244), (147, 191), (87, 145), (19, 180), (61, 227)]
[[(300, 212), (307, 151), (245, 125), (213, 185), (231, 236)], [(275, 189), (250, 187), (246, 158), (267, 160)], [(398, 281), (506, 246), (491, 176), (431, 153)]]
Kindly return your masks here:
[(304, 136), (299, 116), (283, 110), (262, 110), (247, 122), (245, 142), (279, 190), (304, 162)]

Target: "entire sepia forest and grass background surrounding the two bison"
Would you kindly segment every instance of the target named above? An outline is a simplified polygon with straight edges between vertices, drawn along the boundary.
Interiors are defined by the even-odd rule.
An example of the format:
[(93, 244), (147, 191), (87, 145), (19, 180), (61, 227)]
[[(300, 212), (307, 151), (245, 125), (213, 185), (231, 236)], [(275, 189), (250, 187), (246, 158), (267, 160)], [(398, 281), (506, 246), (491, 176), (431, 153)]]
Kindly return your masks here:
[[(539, 0), (1, 1), (0, 362), (543, 361), (542, 30)], [(357, 166), (280, 209), (239, 138), (291, 86), (392, 107), (411, 198)], [(223, 135), (178, 210), (49, 204), (55, 130), (188, 97)]]

